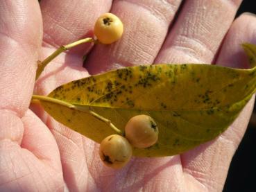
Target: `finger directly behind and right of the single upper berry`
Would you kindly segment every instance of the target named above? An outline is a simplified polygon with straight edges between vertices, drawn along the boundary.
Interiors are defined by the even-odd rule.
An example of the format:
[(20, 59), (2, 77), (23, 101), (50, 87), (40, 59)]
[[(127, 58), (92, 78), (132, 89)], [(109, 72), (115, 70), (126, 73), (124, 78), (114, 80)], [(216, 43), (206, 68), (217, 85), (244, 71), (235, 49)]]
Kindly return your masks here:
[(112, 45), (96, 45), (85, 64), (89, 73), (151, 64), (164, 42), (180, 2), (114, 1), (111, 12), (123, 21), (123, 37)]

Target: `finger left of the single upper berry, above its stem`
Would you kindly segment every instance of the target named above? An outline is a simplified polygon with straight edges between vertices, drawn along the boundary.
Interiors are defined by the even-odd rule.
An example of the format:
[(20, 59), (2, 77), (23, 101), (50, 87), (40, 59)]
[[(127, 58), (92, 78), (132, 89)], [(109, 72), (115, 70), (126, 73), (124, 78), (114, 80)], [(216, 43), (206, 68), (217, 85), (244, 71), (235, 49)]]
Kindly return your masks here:
[[(83, 37), (92, 37), (94, 22), (110, 10), (112, 0), (42, 0), (40, 6), (44, 22), (44, 46), (58, 47)], [(92, 44), (78, 46), (71, 53), (83, 57)], [(82, 62), (81, 62), (82, 64)]]

